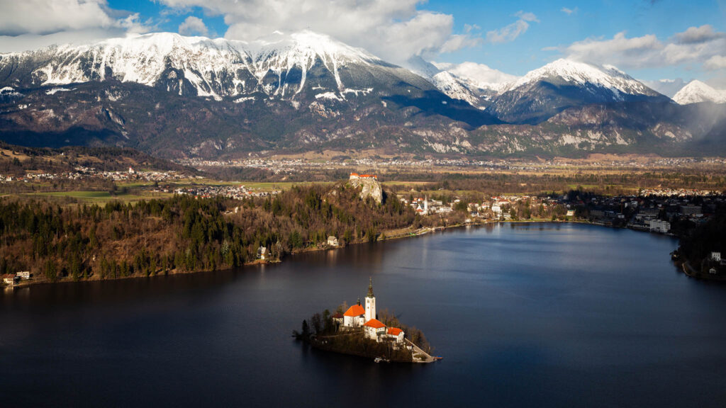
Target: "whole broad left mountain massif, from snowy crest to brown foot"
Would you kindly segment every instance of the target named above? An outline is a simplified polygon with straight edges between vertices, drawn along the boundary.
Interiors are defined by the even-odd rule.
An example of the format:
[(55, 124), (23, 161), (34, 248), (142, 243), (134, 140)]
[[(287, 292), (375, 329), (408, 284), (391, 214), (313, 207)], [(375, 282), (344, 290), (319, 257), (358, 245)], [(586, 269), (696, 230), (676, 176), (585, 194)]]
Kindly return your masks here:
[(154, 33), (0, 56), (4, 139), (119, 144), (165, 157), (301, 150), (367, 134), (455, 148), (498, 123), (409, 70), (303, 32), (246, 43)]

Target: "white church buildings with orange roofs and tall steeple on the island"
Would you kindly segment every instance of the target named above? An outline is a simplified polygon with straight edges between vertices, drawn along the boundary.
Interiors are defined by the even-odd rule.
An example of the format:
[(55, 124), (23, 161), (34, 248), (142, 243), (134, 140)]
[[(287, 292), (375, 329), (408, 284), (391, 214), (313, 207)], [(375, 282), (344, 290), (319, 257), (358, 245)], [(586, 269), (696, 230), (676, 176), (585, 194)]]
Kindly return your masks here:
[(360, 299), (358, 303), (349, 307), (343, 314), (342, 330), (354, 330), (359, 327), (363, 328), (366, 338), (376, 340), (381, 343), (384, 341), (393, 341), (401, 344), (404, 342), (404, 331), (398, 327), (386, 327), (383, 322), (376, 319), (375, 313), (375, 296), (373, 295), (373, 279), (370, 279), (368, 285), (368, 294), (365, 297), (365, 309), (361, 306)]

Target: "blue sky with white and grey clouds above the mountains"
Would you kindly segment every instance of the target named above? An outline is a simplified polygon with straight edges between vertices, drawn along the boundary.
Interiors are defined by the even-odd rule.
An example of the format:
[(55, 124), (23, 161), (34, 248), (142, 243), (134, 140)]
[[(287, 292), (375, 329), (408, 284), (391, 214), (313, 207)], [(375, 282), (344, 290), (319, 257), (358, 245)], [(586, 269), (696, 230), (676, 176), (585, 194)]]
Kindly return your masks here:
[(483, 80), (568, 58), (615, 65), (669, 95), (693, 79), (726, 89), (726, 0), (0, 0), (0, 52), (157, 31), (249, 41), (306, 29)]

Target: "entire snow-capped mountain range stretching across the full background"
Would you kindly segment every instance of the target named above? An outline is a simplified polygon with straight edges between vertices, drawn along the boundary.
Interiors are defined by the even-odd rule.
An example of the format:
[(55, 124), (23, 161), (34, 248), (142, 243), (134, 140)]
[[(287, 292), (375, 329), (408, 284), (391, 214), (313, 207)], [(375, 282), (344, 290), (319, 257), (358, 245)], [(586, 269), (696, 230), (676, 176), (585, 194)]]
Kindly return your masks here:
[(153, 33), (0, 54), (0, 139), (166, 158), (560, 154), (671, 149), (720, 137), (726, 121), (726, 105), (677, 105), (612, 67), (558, 60), (517, 78), (481, 64), (408, 65), (309, 31), (249, 42)]

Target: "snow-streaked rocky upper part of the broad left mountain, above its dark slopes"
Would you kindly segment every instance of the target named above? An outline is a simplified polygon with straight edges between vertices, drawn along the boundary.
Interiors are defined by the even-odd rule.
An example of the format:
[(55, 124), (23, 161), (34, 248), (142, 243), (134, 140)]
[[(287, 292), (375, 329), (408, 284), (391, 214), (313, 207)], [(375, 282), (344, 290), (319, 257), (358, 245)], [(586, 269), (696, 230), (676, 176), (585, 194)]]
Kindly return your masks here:
[[(301, 91), (339, 99), (372, 91), (376, 81), (424, 81), (403, 68), (330, 37), (304, 31), (253, 42), (151, 33), (97, 44), (52, 46), (0, 56), (10, 86), (115, 80), (213, 99), (261, 93), (294, 99)], [(8, 79), (14, 81), (8, 83)], [(387, 90), (386, 90), (387, 91)]]

